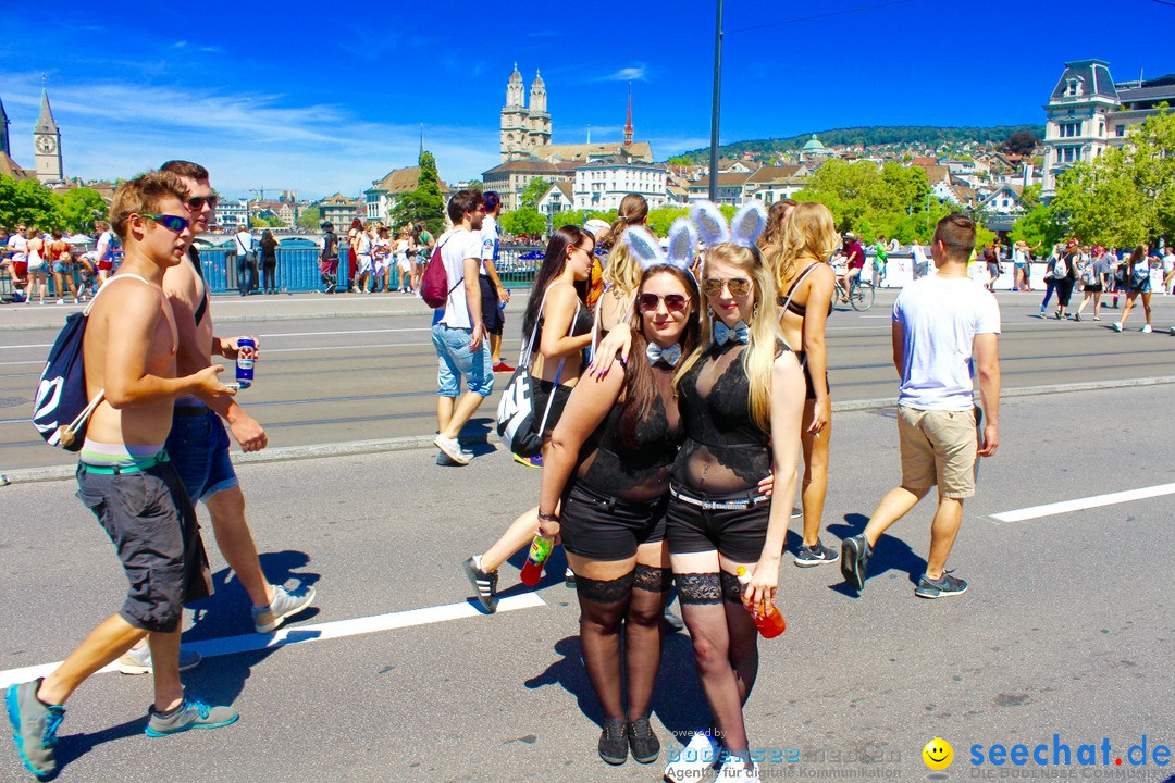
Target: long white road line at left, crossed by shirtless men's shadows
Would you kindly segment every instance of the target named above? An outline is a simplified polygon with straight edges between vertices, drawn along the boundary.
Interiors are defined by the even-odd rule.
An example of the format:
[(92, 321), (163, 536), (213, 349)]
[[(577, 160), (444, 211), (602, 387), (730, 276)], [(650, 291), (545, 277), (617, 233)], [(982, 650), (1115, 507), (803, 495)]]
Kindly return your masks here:
[[(498, 613), (512, 612), (515, 609), (531, 609), (533, 607), (546, 606), (546, 602), (537, 593), (523, 593), (510, 595), (498, 601)], [(274, 647), (286, 647), (288, 644), (303, 644), (306, 642), (317, 642), (327, 639), (342, 639), (344, 636), (358, 636), (362, 634), (375, 634), (382, 630), (394, 630), (396, 628), (410, 628), (412, 626), (427, 626), (434, 622), (445, 622), (448, 620), (462, 620), (465, 617), (483, 616), (474, 608), (469, 601), (461, 603), (445, 603), (423, 609), (405, 609), (403, 612), (390, 612), (377, 614), (370, 617), (354, 617), (351, 620), (336, 620), (309, 626), (289, 626), (280, 628), (273, 634), (243, 634), (241, 636), (226, 636), (223, 639), (207, 639), (202, 642), (184, 644), (186, 649), (194, 649), (203, 657), (216, 657), (217, 655), (235, 655), (237, 653), (250, 653), (253, 650), (269, 649)], [(19, 682), (28, 682), (36, 677), (52, 674), (61, 662), (42, 663), (28, 666), (21, 669), (8, 669), (0, 671), (0, 688), (7, 688)], [(103, 671), (118, 671), (119, 664), (114, 662), (102, 669)]]

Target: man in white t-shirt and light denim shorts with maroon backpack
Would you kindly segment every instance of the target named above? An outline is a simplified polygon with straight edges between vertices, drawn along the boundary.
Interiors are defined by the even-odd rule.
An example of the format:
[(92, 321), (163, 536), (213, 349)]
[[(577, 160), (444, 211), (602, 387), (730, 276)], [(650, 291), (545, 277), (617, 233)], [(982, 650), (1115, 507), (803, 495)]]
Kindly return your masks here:
[[(452, 230), (437, 245), (444, 262), (449, 295), (432, 318), (432, 346), (437, 351), (437, 438), (441, 452), (458, 465), (469, 465), (472, 453), (457, 436), (474, 412), (494, 391), (490, 346), (482, 323), (481, 194), (462, 190), (449, 200)], [(465, 393), (458, 399), (461, 380)]]

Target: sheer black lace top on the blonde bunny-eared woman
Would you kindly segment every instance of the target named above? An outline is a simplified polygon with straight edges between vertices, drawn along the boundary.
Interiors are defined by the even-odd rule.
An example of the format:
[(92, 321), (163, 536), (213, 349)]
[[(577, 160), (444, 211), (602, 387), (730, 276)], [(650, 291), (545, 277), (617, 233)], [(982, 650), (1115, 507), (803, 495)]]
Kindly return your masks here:
[(685, 441), (673, 479), (696, 492), (743, 492), (771, 472), (768, 436), (751, 419), (745, 351), (737, 342), (713, 345), (682, 378)]

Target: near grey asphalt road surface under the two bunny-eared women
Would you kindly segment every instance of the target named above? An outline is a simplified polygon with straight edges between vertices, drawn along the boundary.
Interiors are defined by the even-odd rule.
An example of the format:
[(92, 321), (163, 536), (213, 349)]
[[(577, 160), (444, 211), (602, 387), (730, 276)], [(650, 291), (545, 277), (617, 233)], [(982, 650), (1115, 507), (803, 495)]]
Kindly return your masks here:
[[(1014, 313), (1005, 309), (1006, 345), (1023, 346), (1021, 356), (1072, 356), (1063, 350), (1072, 349), (1089, 362), (1122, 360), (1124, 371), (1170, 350), (1166, 338), (1103, 336), (1085, 324), (1040, 324)], [(881, 351), (884, 322), (838, 316), (835, 323), (860, 329), (837, 338), (834, 356)], [(258, 331), (268, 329), (276, 331)], [(306, 372), (324, 360), (290, 358)], [(384, 366), (404, 359), (384, 349)], [(273, 369), (280, 362), (267, 357), (260, 377), (286, 377)], [(1055, 380), (1055, 370), (1027, 369), (1045, 362), (1025, 359), (1021, 377)], [(286, 383), (298, 383), (295, 374)], [(837, 377), (845, 379), (839, 387), (851, 372), (838, 370)], [(385, 391), (411, 383), (398, 378), (385, 376)], [(867, 393), (882, 393), (878, 384)], [(289, 409), (257, 407), (267, 424)], [(928, 772), (921, 749), (934, 737), (954, 747), (949, 779), (1082, 772), (1082, 779), (1175, 779), (1170, 767), (1113, 763), (1143, 735), (1148, 754), (1175, 745), (1169, 495), (1023, 522), (992, 519), (1175, 482), (1173, 420), (1175, 398), (1166, 385), (1008, 399), (999, 455), (985, 460), (949, 563), (972, 585), (961, 598), (913, 596), (925, 567), (929, 501), (882, 539), (860, 596), (834, 568), (799, 569), (785, 558), (779, 602), (788, 629), (760, 646), (747, 722), (753, 745), (784, 754), (794, 748), (801, 760), (768, 765), (764, 779), (921, 781)], [(862, 527), (898, 480), (892, 412), (835, 414), (832, 445), (825, 541), (835, 545)], [(428, 625), (328, 637), (324, 629), (340, 626), (327, 623), (466, 601), (461, 560), (531, 506), (538, 482), (537, 471), (491, 446), (479, 451), (466, 468), (437, 467), (428, 450), (243, 465), (267, 572), (318, 589), (316, 609), (289, 626), (304, 641), (208, 657), (186, 675), (193, 691), (241, 710), (237, 724), (216, 731), (150, 740), (142, 734), (148, 679), (94, 676), (68, 704), (60, 779), (659, 779), (660, 764), (630, 760), (610, 768), (596, 756), (599, 710), (579, 660), (575, 595), (563, 586), (557, 556), (533, 594), (516, 586), (517, 560), (504, 567), (506, 595), (540, 599), (529, 608), (452, 620), (437, 612)], [(0, 677), (61, 660), (122, 601), (113, 549), (73, 491), (69, 481), (0, 488)], [(206, 539), (220, 589), (186, 613), (186, 640), (215, 646), (244, 635), (256, 642), (243, 590)], [(670, 637), (654, 729), (667, 748), (671, 733), (704, 720), (689, 639)], [(1099, 763), (1107, 738), (1110, 764), (1080, 768), (1075, 757), (1070, 768), (969, 763), (972, 745), (998, 743), (1048, 743), (1052, 761), (1054, 735), (1074, 756), (1081, 744), (1096, 745)], [(1146, 776), (1103, 777), (1122, 771)], [(31, 778), (5, 743), (0, 781), (24, 779)]]

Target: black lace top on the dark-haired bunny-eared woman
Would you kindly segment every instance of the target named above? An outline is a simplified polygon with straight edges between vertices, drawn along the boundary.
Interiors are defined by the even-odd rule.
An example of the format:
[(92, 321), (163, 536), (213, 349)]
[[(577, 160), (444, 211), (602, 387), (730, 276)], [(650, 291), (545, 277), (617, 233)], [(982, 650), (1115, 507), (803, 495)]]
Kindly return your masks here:
[(658, 394), (637, 425), (636, 447), (620, 437), (619, 403), (579, 451), (578, 479), (620, 500), (652, 500), (669, 492), (670, 466), (682, 443), (682, 418), (672, 398), (672, 373), (653, 370)]

